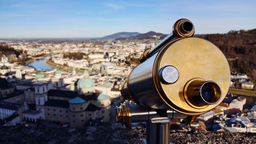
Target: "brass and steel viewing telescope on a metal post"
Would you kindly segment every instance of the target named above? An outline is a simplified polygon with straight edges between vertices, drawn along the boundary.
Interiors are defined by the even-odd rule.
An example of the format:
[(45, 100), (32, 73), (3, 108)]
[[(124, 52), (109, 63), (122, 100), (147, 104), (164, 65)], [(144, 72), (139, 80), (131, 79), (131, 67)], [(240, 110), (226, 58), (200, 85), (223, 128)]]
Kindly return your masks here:
[(194, 32), (191, 21), (176, 21), (173, 33), (144, 50), (123, 84), (126, 100), (116, 108), (117, 122), (147, 122), (147, 143), (169, 143), (170, 120), (192, 120), (219, 105), (229, 90), (226, 57)]

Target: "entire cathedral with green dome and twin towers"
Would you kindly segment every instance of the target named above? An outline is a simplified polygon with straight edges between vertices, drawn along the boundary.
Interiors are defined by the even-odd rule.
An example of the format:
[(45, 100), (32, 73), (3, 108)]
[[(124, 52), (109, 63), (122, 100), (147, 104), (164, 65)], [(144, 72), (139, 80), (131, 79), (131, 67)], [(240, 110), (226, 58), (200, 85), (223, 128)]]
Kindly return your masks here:
[[(110, 121), (110, 96), (95, 90), (94, 80), (89, 77), (87, 70), (84, 71), (83, 77), (75, 82), (75, 91), (61, 89), (63, 79), (58, 69), (51, 83), (42, 81), (43, 77), (38, 71), (34, 90), (25, 92), (25, 101), (28, 105), (35, 103), (35, 108), (23, 112), (24, 120), (34, 122), (48, 120), (61, 124), (67, 123), (71, 127), (82, 127), (91, 122)], [(31, 96), (34, 97), (34, 101)]]

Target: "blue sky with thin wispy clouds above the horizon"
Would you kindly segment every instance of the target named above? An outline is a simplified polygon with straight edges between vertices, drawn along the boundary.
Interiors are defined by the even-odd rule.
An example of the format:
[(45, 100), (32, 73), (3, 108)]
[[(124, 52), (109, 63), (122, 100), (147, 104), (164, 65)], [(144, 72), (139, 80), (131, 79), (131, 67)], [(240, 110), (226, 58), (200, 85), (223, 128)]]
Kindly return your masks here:
[(0, 0), (0, 38), (169, 34), (180, 18), (191, 20), (196, 34), (249, 30), (256, 28), (256, 1)]

